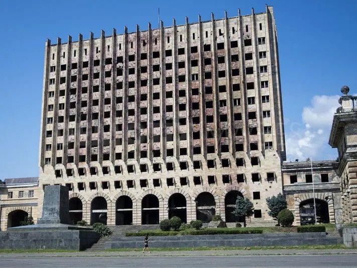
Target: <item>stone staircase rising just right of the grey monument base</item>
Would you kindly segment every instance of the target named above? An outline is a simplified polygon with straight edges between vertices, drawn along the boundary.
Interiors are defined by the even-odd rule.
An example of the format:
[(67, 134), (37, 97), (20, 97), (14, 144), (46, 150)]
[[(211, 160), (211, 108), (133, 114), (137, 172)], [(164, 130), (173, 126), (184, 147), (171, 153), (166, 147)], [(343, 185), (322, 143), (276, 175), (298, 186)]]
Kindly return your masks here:
[(159, 229), (159, 225), (108, 225), (112, 233), (106, 237), (102, 237), (98, 242), (94, 243), (91, 247), (88, 247), (86, 252), (103, 251), (106, 249), (106, 244), (111, 241), (122, 240), (127, 232), (139, 232), (145, 230)]

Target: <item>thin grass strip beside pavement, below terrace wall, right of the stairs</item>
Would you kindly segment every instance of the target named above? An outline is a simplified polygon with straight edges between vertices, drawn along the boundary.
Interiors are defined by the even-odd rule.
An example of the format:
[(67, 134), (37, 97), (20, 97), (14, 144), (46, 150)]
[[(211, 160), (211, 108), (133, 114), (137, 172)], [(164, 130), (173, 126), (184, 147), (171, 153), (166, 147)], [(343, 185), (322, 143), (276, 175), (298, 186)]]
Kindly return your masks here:
[[(269, 250), (269, 249), (346, 249), (345, 245), (302, 245), (302, 246), (250, 246), (250, 247), (233, 247), (233, 246), (219, 246), (219, 247), (150, 247), (151, 251), (202, 251), (202, 250)], [(124, 252), (124, 251), (142, 251), (142, 248), (110, 248), (105, 249), (107, 252)]]

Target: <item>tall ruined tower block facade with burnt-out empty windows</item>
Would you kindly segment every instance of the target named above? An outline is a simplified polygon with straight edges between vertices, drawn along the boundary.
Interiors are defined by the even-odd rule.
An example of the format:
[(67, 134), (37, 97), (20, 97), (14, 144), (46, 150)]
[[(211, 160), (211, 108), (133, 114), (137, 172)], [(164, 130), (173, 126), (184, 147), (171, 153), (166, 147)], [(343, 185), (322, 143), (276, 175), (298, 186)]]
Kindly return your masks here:
[(68, 186), (73, 222), (233, 222), (238, 195), (270, 221), (285, 160), (273, 8), (48, 40), (41, 120), (40, 189)]

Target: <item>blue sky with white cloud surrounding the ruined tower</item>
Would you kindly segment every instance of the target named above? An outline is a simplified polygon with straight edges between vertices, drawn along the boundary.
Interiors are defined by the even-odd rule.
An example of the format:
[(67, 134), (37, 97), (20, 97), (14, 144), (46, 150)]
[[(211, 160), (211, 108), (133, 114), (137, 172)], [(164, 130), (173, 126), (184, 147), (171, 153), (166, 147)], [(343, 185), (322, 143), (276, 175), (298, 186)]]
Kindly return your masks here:
[[(59, 5), (55, 5), (55, 3)], [(274, 6), (288, 160), (334, 159), (327, 145), (339, 88), (357, 93), (357, 1), (2, 1), (0, 5), (0, 179), (38, 175), (44, 44), (57, 36), (134, 31), (198, 14), (222, 18)], [(68, 12), (69, 11), (69, 12)]]

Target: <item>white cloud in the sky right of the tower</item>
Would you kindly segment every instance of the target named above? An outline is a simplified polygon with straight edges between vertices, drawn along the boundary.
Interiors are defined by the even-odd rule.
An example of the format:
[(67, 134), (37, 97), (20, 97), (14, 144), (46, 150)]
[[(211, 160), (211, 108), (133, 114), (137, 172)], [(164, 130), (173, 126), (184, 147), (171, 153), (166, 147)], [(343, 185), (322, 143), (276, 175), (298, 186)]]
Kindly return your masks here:
[(302, 122), (285, 125), (287, 160), (333, 159), (336, 149), (328, 145), (333, 114), (336, 112), (339, 96), (314, 96), (311, 106), (304, 107)]

